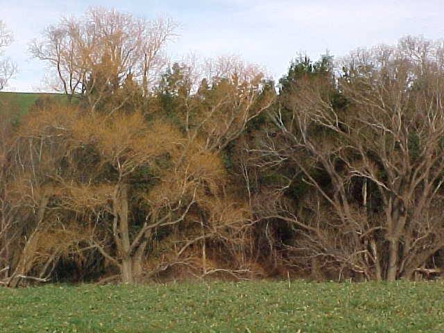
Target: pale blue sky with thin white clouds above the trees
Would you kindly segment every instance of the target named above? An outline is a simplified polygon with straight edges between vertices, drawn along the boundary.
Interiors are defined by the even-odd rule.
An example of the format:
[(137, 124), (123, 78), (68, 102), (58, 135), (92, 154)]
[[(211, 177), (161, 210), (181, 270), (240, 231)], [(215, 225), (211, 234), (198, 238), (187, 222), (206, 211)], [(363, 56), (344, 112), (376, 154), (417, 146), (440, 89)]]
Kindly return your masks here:
[(237, 54), (280, 78), (299, 53), (336, 57), (358, 47), (393, 44), (403, 35), (444, 37), (443, 0), (0, 0), (0, 19), (15, 34), (7, 49), (19, 67), (6, 91), (39, 92), (45, 67), (33, 60), (28, 45), (63, 16), (103, 6), (180, 23), (172, 58)]

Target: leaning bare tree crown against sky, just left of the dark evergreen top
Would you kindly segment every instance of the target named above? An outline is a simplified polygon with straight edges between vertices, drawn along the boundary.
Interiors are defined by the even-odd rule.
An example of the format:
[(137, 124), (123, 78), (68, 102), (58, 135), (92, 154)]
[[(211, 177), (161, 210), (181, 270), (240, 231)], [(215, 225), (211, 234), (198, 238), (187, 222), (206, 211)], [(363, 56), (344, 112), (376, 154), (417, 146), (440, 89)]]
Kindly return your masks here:
[(222, 151), (275, 100), (264, 69), (238, 56), (176, 64), (181, 120), (190, 138), (205, 135), (210, 151)]

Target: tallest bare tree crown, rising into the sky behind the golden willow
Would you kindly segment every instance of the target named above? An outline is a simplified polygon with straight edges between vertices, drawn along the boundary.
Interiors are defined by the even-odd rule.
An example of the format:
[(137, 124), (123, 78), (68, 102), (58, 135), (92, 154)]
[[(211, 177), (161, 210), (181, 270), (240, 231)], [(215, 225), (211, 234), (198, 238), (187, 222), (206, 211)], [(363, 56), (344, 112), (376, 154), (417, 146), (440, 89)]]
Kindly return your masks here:
[(79, 19), (63, 18), (46, 28), (30, 51), (55, 71), (59, 85), (53, 88), (84, 95), (94, 111), (128, 76), (143, 83), (148, 94), (166, 65), (163, 50), (176, 28), (171, 19), (148, 21), (117, 10), (90, 8)]

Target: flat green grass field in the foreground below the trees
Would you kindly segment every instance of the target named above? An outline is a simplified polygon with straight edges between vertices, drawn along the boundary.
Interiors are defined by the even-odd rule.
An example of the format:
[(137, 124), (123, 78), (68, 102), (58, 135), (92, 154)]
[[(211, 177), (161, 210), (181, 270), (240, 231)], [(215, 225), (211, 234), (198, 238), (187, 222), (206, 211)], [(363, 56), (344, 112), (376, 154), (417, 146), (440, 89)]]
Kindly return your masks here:
[(444, 332), (444, 282), (0, 289), (0, 332)]

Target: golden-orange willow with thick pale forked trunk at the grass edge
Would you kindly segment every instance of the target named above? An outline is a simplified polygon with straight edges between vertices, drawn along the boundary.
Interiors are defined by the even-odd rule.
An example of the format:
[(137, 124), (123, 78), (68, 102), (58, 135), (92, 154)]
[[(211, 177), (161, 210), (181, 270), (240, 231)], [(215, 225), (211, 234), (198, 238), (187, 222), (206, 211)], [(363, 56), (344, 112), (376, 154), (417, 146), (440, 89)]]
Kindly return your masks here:
[[(79, 246), (96, 249), (132, 283), (144, 273), (147, 247), (162, 244), (158, 232), (167, 234), (160, 247), (172, 246), (162, 263), (169, 266), (184, 262), (190, 246), (212, 237), (230, 243), (227, 232), (245, 228), (249, 209), (230, 194), (221, 151), (208, 146), (207, 133), (196, 128), (187, 135), (162, 116), (150, 117), (139, 110), (110, 115), (44, 105), (24, 119), (17, 153), (31, 178), (26, 189), (38, 196), (38, 237), (67, 230), (54, 244), (60, 248), (40, 250), (47, 260)], [(194, 264), (196, 258), (188, 259)], [(30, 271), (33, 260), (26, 260), (17, 275)]]

